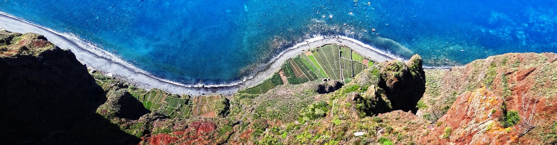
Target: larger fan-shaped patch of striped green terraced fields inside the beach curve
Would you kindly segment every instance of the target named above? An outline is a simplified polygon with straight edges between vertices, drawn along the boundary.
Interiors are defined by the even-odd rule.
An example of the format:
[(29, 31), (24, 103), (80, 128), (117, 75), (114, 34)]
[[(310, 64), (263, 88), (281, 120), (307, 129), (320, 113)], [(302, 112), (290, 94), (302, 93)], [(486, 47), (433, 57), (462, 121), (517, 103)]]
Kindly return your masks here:
[[(329, 44), (287, 60), (282, 64), (280, 72), (284, 72), (287, 79), (287, 82), (286, 80), (284, 82), (288, 84), (301, 84), (323, 79), (348, 82), (371, 65), (373, 65), (372, 61), (368, 61), (350, 48)], [(240, 90), (238, 93), (263, 94), (282, 84), (284, 83), (277, 71), (263, 83)]]

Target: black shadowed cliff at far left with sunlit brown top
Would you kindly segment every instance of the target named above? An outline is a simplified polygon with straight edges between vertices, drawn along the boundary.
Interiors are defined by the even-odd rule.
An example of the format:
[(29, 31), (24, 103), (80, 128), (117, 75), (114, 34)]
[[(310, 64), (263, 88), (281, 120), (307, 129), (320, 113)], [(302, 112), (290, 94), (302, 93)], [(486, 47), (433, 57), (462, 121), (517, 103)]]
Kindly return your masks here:
[[(104, 119), (95, 115), (106, 100), (104, 91), (85, 66), (71, 51), (33, 33), (0, 31), (0, 94), (3, 144), (94, 143), (79, 131), (95, 133), (98, 128), (76, 126)], [(117, 128), (112, 132), (116, 137), (122, 133)]]

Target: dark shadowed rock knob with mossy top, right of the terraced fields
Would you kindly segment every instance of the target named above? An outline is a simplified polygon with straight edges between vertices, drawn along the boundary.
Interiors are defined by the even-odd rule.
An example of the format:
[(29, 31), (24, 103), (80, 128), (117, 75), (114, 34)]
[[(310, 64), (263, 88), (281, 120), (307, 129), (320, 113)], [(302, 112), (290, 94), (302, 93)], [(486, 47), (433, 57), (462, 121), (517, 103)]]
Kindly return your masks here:
[(349, 98), (353, 98), (351, 103), (356, 103), (355, 109), (360, 117), (392, 110), (416, 113), (416, 104), (425, 92), (425, 84), (422, 58), (414, 55), (406, 63), (398, 60), (381, 62), (356, 75), (348, 86), (364, 94), (349, 94)]

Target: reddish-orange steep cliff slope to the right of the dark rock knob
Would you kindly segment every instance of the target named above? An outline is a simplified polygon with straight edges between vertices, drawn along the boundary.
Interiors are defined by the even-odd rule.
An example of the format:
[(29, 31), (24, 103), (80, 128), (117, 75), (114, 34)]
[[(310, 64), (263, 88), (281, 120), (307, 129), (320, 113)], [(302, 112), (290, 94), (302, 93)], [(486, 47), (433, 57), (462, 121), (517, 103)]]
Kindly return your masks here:
[(555, 143), (555, 59), (553, 53), (504, 54), (453, 67), (442, 76), (439, 92), (428, 93), (441, 99), (426, 100), (447, 112), (419, 142)]

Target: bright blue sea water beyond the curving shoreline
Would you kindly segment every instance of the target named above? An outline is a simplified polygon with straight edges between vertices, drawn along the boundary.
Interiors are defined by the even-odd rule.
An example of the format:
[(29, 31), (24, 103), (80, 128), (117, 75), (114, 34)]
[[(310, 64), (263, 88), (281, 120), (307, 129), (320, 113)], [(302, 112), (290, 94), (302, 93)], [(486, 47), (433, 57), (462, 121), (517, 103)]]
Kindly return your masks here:
[(428, 65), (555, 52), (556, 8), (555, 1), (0, 1), (0, 11), (75, 33), (184, 84), (238, 80), (248, 65), (315, 34), (420, 54)]

